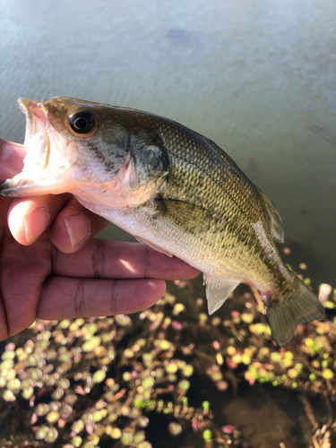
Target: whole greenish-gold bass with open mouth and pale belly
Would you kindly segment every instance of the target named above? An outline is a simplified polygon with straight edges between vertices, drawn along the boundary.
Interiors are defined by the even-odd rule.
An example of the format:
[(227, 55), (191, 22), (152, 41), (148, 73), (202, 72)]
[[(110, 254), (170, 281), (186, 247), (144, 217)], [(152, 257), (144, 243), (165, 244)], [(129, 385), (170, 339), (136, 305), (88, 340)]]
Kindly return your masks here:
[(142, 243), (202, 271), (210, 314), (241, 281), (254, 285), (280, 346), (297, 324), (324, 314), (281, 260), (274, 204), (211, 139), (132, 108), (69, 97), (18, 102), (27, 155), (1, 195), (73, 194)]

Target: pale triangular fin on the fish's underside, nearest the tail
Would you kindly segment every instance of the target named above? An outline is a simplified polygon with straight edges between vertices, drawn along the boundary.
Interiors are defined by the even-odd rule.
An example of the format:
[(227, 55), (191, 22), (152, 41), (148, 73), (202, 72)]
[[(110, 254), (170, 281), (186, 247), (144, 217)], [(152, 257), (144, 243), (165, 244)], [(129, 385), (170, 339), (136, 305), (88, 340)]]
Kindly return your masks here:
[(237, 288), (240, 280), (218, 279), (204, 274), (203, 282), (206, 283), (209, 314), (212, 314), (223, 305), (231, 292)]

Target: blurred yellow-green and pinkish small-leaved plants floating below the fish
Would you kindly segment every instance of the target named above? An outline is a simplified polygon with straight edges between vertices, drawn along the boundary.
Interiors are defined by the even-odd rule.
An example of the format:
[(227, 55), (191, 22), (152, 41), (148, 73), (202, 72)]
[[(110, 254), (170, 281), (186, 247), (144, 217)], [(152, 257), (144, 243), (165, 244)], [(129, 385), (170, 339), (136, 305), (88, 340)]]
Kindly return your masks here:
[[(194, 446), (239, 447), (242, 435), (198, 394), (201, 382), (218, 393), (242, 381), (271, 383), (336, 401), (336, 318), (298, 326), (279, 348), (257, 291), (242, 289), (224, 318), (209, 316), (200, 297), (188, 306), (167, 293), (132, 317), (33, 323), (22, 345), (5, 346), (0, 416), (41, 447), (151, 448), (152, 421), (169, 444), (192, 437)], [(327, 298), (332, 309), (335, 293)], [(331, 434), (332, 421), (321, 430), (314, 425), (314, 446)]]

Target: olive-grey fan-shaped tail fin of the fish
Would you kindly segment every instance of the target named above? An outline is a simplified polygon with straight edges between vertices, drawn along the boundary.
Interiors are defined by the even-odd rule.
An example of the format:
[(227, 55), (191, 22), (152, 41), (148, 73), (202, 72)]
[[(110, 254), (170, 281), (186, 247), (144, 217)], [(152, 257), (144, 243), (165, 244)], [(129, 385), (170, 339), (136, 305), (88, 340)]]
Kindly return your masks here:
[(298, 278), (294, 280), (289, 295), (273, 304), (270, 302), (267, 309), (272, 336), (280, 346), (292, 339), (299, 323), (314, 321), (323, 314), (322, 303)]

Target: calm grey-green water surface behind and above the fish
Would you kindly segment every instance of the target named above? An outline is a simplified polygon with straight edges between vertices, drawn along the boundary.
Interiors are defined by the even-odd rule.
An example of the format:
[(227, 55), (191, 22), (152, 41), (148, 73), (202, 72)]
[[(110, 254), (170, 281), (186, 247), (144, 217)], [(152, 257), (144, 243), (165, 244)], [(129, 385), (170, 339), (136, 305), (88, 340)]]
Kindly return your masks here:
[[(297, 262), (308, 261), (316, 284), (335, 285), (335, 22), (332, 0), (1, 2), (0, 136), (23, 142), (19, 97), (66, 95), (168, 116), (237, 161), (277, 205)], [(104, 235), (126, 238), (114, 228)], [(223, 412), (244, 426), (262, 409), (259, 392)], [(276, 397), (263, 394), (274, 413)], [(280, 408), (277, 430), (300, 431)], [(244, 431), (260, 445), (259, 432)]]

